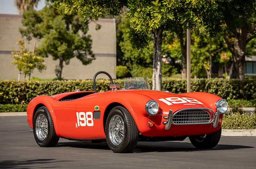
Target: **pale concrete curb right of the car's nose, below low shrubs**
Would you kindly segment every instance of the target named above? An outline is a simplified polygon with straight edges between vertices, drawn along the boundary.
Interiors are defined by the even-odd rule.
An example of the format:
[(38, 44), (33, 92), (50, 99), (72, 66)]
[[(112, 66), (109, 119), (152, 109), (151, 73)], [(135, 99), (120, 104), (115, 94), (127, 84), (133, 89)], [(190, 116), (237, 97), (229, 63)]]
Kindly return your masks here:
[(253, 130), (221, 130), (221, 136), (256, 136), (256, 129)]

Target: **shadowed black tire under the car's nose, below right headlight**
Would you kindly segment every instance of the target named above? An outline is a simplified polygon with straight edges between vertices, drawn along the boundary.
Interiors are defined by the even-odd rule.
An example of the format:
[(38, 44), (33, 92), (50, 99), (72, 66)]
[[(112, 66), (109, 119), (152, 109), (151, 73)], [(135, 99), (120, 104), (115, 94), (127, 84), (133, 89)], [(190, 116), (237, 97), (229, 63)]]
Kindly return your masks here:
[(189, 140), (198, 149), (211, 149), (218, 144), (220, 136), (221, 127), (218, 131), (211, 134), (189, 136)]

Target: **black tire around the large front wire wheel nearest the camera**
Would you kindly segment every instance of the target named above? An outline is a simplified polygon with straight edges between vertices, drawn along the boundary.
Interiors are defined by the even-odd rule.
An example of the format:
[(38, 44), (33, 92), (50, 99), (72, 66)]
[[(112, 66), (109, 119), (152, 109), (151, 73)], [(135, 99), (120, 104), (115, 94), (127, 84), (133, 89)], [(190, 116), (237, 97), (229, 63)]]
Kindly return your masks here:
[[(123, 133), (123, 139), (121, 139), (121, 143), (119, 145), (115, 145), (113, 140), (113, 136), (111, 137), (111, 122), (115, 118), (121, 118), (123, 121), (123, 127), (120, 127), (120, 130), (118, 129), (118, 132)], [(122, 123), (121, 122), (121, 123)], [(113, 125), (114, 126), (114, 125)], [(139, 130), (134, 122), (134, 119), (132, 118), (132, 115), (130, 112), (121, 106), (114, 107), (108, 114), (108, 118), (106, 121), (106, 137), (107, 137), (107, 143), (109, 148), (115, 152), (115, 153), (125, 153), (125, 152), (132, 152), (134, 148), (137, 145), (138, 137), (139, 137)], [(113, 131), (114, 132), (114, 131)], [(113, 134), (112, 134), (113, 135)], [(112, 139), (111, 139), (112, 138)], [(118, 143), (117, 143), (118, 144)]]

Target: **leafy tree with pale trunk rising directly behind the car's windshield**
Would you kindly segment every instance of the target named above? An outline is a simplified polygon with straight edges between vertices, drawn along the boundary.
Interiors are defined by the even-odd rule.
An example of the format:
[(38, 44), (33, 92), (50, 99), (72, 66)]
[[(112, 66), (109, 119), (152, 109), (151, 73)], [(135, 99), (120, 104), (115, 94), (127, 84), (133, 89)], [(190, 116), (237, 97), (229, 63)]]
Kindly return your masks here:
[[(127, 16), (132, 23), (131, 27), (131, 41), (139, 43), (138, 46), (147, 45), (147, 32), (150, 32), (153, 38), (153, 89), (161, 90), (161, 60), (162, 60), (162, 41), (163, 32), (170, 31), (175, 27), (174, 23), (180, 20), (188, 23), (191, 27), (193, 24), (188, 19), (180, 18), (182, 13), (188, 13), (188, 16), (202, 16), (205, 25), (212, 26), (212, 10), (216, 10), (215, 1), (201, 1), (201, 0), (163, 0), (163, 1), (108, 1), (108, 0), (56, 0), (57, 4), (65, 7), (66, 12), (80, 11), (84, 19), (92, 18), (98, 19), (105, 13), (118, 15), (123, 6), (127, 6)], [(189, 8), (189, 9), (188, 9)], [(177, 16), (177, 17), (175, 17)], [(204, 16), (204, 17), (203, 17)], [(191, 17), (193, 22), (200, 21), (196, 17)], [(215, 23), (215, 22), (214, 22)]]

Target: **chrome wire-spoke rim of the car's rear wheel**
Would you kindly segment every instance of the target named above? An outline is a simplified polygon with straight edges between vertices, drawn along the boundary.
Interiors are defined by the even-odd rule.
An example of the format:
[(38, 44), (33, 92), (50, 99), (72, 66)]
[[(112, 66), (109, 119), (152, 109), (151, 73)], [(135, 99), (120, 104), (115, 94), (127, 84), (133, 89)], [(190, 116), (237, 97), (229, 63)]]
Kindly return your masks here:
[(48, 122), (44, 114), (39, 114), (36, 118), (36, 136), (43, 141), (48, 134)]

